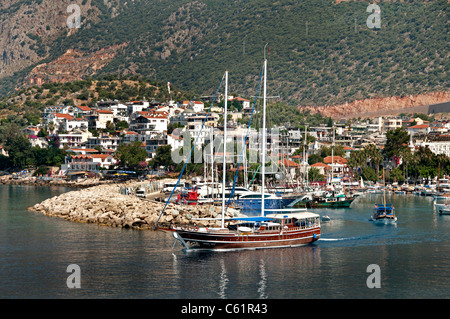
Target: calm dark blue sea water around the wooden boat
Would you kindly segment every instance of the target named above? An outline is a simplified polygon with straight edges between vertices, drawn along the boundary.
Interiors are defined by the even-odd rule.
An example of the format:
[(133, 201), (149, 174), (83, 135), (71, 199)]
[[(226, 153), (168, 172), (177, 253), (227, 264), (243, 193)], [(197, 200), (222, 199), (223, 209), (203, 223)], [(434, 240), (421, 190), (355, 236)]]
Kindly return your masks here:
[[(26, 210), (67, 191), (73, 189), (0, 185), (0, 298), (450, 297), (450, 216), (439, 215), (430, 197), (387, 195), (395, 226), (370, 222), (382, 195), (364, 195), (349, 209), (311, 210), (332, 218), (312, 245), (186, 253), (179, 243), (172, 249), (167, 233)], [(73, 264), (80, 288), (67, 285)]]

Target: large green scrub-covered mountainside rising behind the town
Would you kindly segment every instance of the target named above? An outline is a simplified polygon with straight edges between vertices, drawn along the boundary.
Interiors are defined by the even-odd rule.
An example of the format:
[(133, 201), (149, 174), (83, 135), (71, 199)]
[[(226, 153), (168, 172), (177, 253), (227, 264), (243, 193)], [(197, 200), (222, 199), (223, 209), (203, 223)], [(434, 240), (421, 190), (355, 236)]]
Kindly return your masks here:
[[(25, 3), (33, 8), (52, 1), (72, 3), (9, 0), (14, 5), (0, 6), (0, 23)], [(40, 59), (5, 75), (0, 81), (3, 93), (11, 83), (22, 83), (34, 66), (69, 49), (88, 55), (117, 46), (106, 66), (87, 74), (142, 74), (180, 89), (212, 94), (228, 69), (231, 90), (248, 96), (255, 93), (266, 43), (269, 94), (292, 105), (332, 105), (449, 89), (447, 0), (380, 2), (381, 26), (374, 29), (367, 25), (372, 12), (367, 12), (369, 3), (364, 1), (80, 2), (81, 28), (59, 26), (54, 31), (46, 26), (31, 34), (32, 50)], [(17, 45), (30, 47), (27, 38), (18, 39), (22, 42)]]

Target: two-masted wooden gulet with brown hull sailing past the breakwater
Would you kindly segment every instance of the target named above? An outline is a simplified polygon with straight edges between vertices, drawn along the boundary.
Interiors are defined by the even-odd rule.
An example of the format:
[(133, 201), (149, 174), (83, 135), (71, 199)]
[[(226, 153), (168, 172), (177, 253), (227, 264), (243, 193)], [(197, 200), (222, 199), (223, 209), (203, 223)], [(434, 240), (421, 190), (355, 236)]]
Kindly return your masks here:
[[(265, 163), (266, 141), (266, 75), (267, 60), (264, 59), (264, 99), (263, 99), (263, 127), (262, 127), (262, 163)], [(225, 72), (225, 108), (224, 118), (227, 118), (228, 101), (228, 72)], [(226, 137), (227, 125), (224, 125), (224, 159), (223, 186), (225, 189), (226, 174)], [(195, 145), (193, 146), (195, 147)], [(245, 144), (244, 144), (245, 147)], [(265, 167), (262, 165), (262, 187), (264, 194)], [(228, 251), (241, 249), (265, 249), (280, 247), (296, 247), (312, 243), (320, 238), (320, 216), (307, 212), (306, 209), (264, 209), (261, 200), (261, 216), (228, 218), (225, 220), (225, 192), (222, 194), (222, 217), (220, 227), (198, 227), (195, 225), (164, 225), (160, 230), (173, 232), (173, 237), (189, 250)], [(268, 214), (266, 214), (266, 212)], [(225, 221), (227, 225), (225, 226)], [(158, 224), (158, 223), (157, 223)], [(175, 241), (176, 243), (176, 241)], [(174, 245), (175, 245), (174, 243)]]

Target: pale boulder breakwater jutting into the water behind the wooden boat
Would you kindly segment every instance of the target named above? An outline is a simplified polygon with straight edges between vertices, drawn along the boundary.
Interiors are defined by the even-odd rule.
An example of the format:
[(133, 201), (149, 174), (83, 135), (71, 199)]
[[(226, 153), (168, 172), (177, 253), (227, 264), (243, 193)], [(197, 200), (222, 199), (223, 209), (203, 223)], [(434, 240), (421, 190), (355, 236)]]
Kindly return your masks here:
[[(71, 191), (49, 198), (29, 207), (28, 210), (76, 222), (153, 229), (165, 203), (122, 195), (119, 193), (121, 186), (123, 185), (101, 185)], [(197, 218), (220, 216), (221, 207), (169, 204), (160, 222), (180, 225), (195, 223), (197, 226), (212, 227), (217, 226), (220, 221), (197, 220)], [(239, 216), (237, 210), (228, 209), (226, 217), (237, 216)]]

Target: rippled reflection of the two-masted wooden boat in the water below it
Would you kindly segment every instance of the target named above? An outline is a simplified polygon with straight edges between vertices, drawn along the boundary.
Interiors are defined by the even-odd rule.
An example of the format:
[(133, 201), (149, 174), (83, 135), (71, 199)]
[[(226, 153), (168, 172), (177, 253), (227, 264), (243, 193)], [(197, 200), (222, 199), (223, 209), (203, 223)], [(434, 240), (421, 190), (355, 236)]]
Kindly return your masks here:
[[(176, 279), (172, 288), (180, 292), (181, 298), (267, 299), (271, 294), (278, 296), (281, 289), (277, 280), (271, 278), (279, 278), (280, 273), (285, 277), (304, 278), (321, 263), (320, 247), (314, 244), (227, 253), (176, 251), (175, 254)], [(195, 296), (184, 295), (195, 286), (199, 287)]]

